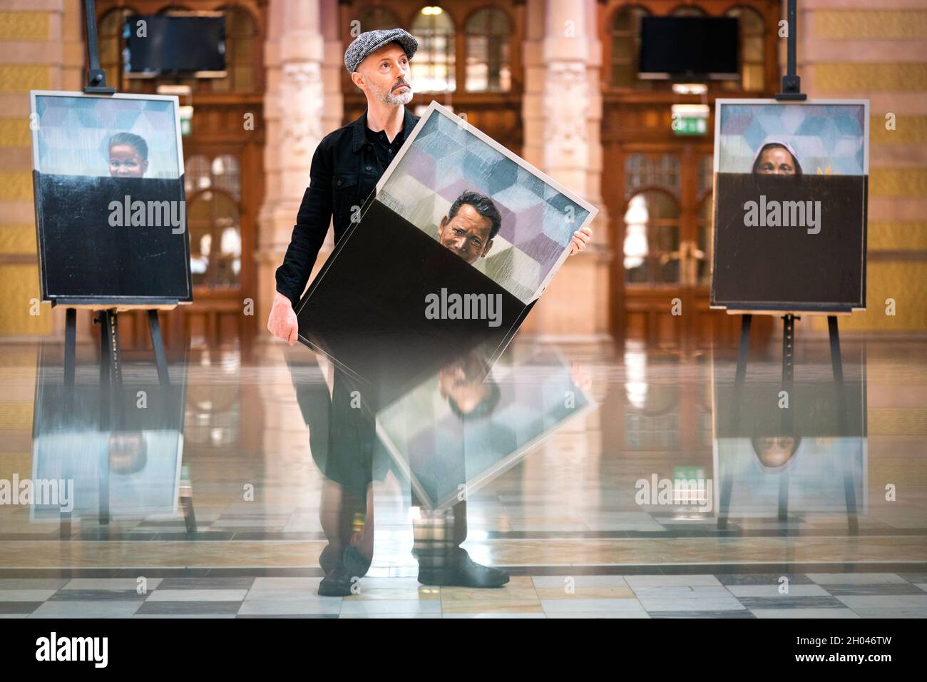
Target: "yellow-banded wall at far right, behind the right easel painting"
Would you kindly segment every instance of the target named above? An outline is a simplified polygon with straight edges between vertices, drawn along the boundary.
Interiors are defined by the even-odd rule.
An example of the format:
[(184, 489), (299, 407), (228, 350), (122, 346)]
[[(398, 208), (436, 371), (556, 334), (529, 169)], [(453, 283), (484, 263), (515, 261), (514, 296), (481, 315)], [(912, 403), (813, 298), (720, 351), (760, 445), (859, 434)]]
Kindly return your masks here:
[[(812, 5), (799, 19), (806, 27), (799, 41), (814, 43), (805, 54), (819, 56), (799, 69), (809, 97), (870, 99), (868, 310), (842, 318), (848, 330), (927, 331), (927, 60), (920, 58), (927, 6), (893, 6), (899, 4)], [(888, 113), (894, 130), (885, 127)], [(886, 299), (895, 301), (895, 315), (886, 315)], [(812, 324), (827, 328), (823, 319)]]

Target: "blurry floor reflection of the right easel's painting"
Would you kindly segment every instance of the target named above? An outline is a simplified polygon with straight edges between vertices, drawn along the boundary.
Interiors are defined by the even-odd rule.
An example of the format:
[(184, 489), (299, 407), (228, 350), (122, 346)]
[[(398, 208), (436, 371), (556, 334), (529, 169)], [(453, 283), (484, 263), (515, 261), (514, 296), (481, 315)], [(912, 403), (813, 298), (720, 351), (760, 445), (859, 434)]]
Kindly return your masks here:
[(845, 349), (839, 382), (823, 350), (807, 350), (795, 369), (800, 380), (787, 386), (778, 364), (753, 365), (739, 385), (733, 364), (714, 363), (719, 519), (821, 513), (855, 522), (866, 513), (865, 349)]

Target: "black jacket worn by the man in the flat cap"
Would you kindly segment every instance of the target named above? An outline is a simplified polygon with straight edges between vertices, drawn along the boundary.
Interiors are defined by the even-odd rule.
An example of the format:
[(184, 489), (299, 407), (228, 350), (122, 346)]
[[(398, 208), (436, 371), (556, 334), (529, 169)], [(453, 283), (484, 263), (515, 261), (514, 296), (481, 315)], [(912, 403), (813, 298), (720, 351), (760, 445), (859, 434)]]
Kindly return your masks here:
[[(403, 145), (412, 135), (418, 119), (405, 109)], [(309, 187), (302, 195), (284, 264), (276, 273), (277, 291), (286, 296), (294, 308), (306, 289), (329, 222), (335, 225), (337, 243), (350, 225), (352, 207), (362, 206), (380, 179), (380, 164), (373, 145), (367, 140), (366, 128), (367, 112), (364, 111), (357, 121), (325, 135), (312, 155)]]

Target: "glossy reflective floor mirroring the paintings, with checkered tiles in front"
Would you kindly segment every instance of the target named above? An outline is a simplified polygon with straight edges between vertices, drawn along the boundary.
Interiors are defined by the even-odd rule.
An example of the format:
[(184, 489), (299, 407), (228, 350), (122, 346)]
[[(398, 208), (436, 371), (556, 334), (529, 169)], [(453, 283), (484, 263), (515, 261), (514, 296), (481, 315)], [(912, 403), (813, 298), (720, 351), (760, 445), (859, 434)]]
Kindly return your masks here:
[[(104, 392), (95, 347), (69, 388), (61, 345), (6, 345), (0, 617), (927, 616), (927, 342), (844, 341), (842, 384), (776, 350), (738, 385), (729, 352), (516, 340), (354, 418), (303, 347), (170, 387), (124, 354)], [(506, 585), (419, 583), (449, 518)]]

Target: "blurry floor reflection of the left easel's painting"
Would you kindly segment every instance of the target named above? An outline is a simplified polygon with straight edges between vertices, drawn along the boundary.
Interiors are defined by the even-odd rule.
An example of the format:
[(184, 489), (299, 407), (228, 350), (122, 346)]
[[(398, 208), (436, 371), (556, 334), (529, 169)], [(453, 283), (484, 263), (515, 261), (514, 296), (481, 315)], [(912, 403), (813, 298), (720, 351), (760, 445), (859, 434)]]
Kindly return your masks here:
[[(144, 518), (177, 508), (184, 450), (186, 377), (155, 383), (152, 367), (122, 367), (124, 383), (108, 391), (97, 367), (75, 369), (62, 382), (59, 351), (40, 351), (32, 419), (32, 478), (70, 481), (71, 513)], [(137, 394), (146, 392), (146, 408)], [(35, 506), (33, 515), (57, 517), (59, 507)]]

